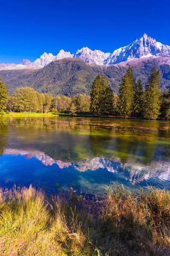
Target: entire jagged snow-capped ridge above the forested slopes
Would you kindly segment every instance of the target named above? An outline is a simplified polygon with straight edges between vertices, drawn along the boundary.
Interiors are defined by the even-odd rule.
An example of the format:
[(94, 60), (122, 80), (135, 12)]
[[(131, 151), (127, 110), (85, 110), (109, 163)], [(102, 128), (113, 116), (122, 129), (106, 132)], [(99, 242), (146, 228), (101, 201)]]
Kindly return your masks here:
[(155, 39), (144, 34), (141, 38), (133, 41), (125, 47), (114, 50), (112, 53), (105, 53), (100, 50), (91, 50), (83, 47), (77, 50), (75, 54), (65, 52), (63, 49), (55, 56), (52, 53), (42, 54), (34, 62), (23, 59), (21, 64), (0, 64), (0, 70), (40, 68), (48, 65), (51, 61), (57, 61), (63, 58), (80, 58), (87, 64), (112, 65), (121, 62), (127, 62), (141, 58), (170, 58), (170, 46), (161, 44)]

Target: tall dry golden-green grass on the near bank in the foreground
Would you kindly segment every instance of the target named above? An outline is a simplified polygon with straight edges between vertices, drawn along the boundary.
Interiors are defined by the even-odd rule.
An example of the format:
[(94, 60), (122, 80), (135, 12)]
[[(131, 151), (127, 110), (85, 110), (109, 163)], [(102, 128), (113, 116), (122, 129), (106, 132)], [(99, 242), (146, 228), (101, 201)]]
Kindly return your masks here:
[(170, 192), (107, 188), (98, 201), (74, 188), (46, 195), (30, 186), (0, 190), (0, 255), (170, 255)]

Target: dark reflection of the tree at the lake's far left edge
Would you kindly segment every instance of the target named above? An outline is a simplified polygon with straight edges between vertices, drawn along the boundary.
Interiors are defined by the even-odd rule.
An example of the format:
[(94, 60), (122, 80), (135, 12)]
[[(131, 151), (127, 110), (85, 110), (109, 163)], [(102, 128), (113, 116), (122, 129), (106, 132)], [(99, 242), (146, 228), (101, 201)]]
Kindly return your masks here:
[(0, 156), (3, 155), (8, 140), (8, 125), (5, 119), (0, 119)]

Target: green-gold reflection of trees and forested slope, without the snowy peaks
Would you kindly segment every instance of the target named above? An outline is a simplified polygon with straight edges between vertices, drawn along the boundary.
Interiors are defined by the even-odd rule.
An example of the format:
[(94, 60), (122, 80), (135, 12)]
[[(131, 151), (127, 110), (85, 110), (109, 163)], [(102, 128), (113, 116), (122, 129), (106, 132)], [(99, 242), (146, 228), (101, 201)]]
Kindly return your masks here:
[[(167, 122), (96, 119), (96, 118), (20, 118), (8, 120), (13, 131), (13, 144), (18, 148), (34, 148), (62, 161), (76, 162), (83, 158), (120, 159), (125, 165), (151, 163), (158, 148), (158, 132), (166, 131)], [(165, 147), (165, 146), (164, 146)], [(167, 148), (162, 154), (167, 157)]]

